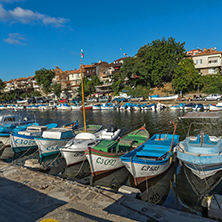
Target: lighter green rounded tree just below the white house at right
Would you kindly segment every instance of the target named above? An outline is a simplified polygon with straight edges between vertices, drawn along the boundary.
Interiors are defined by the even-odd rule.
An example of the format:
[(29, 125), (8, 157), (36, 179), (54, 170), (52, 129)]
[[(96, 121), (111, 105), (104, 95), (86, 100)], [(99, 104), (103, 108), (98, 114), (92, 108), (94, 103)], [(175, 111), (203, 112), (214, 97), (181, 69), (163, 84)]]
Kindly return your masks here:
[(200, 85), (200, 77), (192, 59), (181, 59), (178, 67), (175, 69), (172, 86), (175, 87), (176, 92), (181, 90), (189, 92), (197, 89), (197, 86)]

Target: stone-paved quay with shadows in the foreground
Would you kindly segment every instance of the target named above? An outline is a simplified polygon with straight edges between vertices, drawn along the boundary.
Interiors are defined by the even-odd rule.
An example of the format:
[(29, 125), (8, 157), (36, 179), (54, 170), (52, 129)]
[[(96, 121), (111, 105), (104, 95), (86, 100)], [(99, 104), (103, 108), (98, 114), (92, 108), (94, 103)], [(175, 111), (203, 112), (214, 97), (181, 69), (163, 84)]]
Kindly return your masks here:
[(0, 162), (0, 221), (214, 221)]

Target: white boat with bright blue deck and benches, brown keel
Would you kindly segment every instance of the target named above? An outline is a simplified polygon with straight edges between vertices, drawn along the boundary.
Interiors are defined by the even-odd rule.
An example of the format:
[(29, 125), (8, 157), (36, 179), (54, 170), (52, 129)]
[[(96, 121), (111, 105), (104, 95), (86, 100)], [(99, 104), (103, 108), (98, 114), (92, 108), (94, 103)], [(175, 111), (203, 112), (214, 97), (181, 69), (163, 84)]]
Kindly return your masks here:
[(173, 134), (154, 134), (138, 148), (120, 157), (136, 185), (164, 173), (170, 167), (173, 148), (179, 142), (179, 135), (175, 135), (177, 124), (173, 124)]

